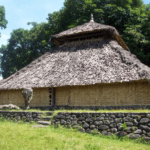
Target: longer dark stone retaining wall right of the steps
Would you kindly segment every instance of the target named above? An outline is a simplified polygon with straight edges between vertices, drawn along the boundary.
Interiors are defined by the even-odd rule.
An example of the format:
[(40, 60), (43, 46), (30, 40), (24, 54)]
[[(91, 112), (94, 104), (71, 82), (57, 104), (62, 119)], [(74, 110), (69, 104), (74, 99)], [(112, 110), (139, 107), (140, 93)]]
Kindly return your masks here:
[(81, 132), (114, 133), (150, 141), (150, 113), (58, 113), (52, 124), (78, 128)]

